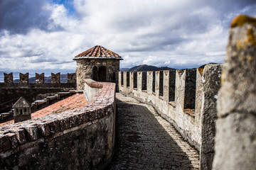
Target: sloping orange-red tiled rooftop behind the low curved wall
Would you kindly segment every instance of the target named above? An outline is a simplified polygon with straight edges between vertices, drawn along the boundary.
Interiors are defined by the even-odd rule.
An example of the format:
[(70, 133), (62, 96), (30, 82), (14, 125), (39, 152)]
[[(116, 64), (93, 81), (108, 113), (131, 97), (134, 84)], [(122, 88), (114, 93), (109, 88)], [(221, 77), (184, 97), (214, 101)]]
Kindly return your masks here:
[[(87, 105), (87, 100), (84, 94), (73, 94), (68, 98), (53, 103), (45, 108), (31, 113), (31, 119), (40, 118), (45, 115), (63, 113), (64, 111), (71, 111), (73, 109), (82, 108)], [(14, 120), (9, 120), (4, 123), (0, 123), (0, 126), (13, 124)]]

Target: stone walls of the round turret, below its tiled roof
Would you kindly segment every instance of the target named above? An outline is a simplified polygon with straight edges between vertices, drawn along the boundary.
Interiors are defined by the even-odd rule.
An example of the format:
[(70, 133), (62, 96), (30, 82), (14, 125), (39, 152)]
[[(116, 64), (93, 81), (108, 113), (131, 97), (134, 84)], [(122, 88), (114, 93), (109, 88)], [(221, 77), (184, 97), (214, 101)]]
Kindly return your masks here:
[(115, 72), (119, 72), (119, 60), (114, 59), (79, 59), (76, 60), (77, 90), (84, 88), (84, 79), (92, 79), (92, 67), (100, 66), (106, 68), (106, 81), (115, 82)]

